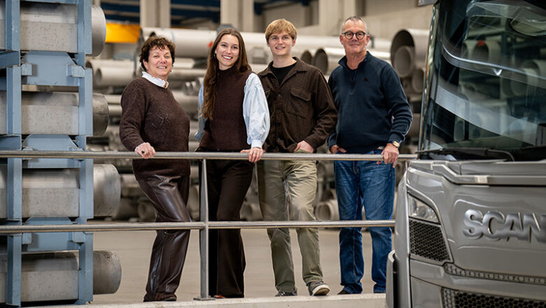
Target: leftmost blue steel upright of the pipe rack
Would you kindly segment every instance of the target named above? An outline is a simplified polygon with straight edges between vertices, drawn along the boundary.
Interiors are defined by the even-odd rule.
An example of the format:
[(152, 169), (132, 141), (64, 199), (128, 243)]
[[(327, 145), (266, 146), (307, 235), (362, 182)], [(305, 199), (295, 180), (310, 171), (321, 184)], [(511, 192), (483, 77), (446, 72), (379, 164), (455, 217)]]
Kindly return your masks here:
[[(7, 109), (9, 135), (21, 134), (21, 67), (20, 67), (20, 1), (6, 1), (6, 51), (18, 54), (18, 63), (6, 68)], [(9, 138), (9, 137), (8, 137)], [(19, 143), (20, 145), (20, 143)], [(20, 146), (18, 150), (20, 150)], [(8, 158), (8, 221), (21, 224), (22, 160)], [(8, 235), (8, 273), (6, 276), (6, 304), (21, 304), (21, 234)]]

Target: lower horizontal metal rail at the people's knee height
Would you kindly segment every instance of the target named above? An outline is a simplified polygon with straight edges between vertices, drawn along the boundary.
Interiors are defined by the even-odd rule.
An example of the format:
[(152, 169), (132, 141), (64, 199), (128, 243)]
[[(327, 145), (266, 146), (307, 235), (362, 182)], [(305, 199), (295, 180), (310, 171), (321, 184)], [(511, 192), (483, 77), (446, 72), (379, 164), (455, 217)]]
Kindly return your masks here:
[[(393, 227), (386, 221), (210, 221), (209, 229)], [(107, 232), (142, 230), (203, 230), (205, 223), (104, 223), (97, 225), (1, 225), (0, 235), (41, 232)]]

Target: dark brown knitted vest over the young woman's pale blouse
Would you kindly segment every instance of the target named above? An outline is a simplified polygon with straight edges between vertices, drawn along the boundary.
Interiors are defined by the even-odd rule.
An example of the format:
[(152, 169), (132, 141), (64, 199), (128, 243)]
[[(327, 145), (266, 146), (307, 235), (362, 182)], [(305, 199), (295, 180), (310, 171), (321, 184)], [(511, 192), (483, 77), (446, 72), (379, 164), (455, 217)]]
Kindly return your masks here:
[(200, 146), (212, 151), (240, 151), (250, 148), (246, 143), (243, 118), (244, 85), (252, 71), (239, 73), (232, 66), (218, 73), (216, 102), (212, 120), (205, 123)]

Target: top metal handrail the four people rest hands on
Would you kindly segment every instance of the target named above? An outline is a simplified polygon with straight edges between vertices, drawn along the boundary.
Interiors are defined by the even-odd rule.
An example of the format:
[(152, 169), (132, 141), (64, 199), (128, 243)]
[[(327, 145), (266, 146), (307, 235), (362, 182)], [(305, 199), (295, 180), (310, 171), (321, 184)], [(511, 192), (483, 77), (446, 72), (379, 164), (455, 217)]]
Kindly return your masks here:
[[(0, 158), (132, 158), (143, 159), (134, 152), (116, 151), (0, 151)], [(186, 160), (247, 160), (246, 153), (237, 152), (156, 152), (156, 159)], [(398, 160), (414, 160), (416, 154), (400, 154)], [(263, 153), (262, 160), (382, 160), (381, 155), (372, 154), (306, 154), (306, 153)]]

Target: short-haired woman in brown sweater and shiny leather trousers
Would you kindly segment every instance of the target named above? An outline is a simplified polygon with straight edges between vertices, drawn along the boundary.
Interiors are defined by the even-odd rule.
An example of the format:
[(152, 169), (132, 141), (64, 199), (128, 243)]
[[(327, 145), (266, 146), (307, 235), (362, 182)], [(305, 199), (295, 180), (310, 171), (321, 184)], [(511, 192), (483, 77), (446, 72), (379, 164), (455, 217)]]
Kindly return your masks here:
[[(155, 151), (188, 151), (190, 120), (167, 87), (174, 44), (152, 36), (139, 56), (144, 72), (121, 97), (120, 139), (144, 160), (133, 160), (140, 187), (158, 212), (158, 222), (190, 221), (186, 209), (190, 183), (188, 160), (146, 160)], [(144, 301), (176, 300), (190, 230), (158, 230), (153, 243)]]

